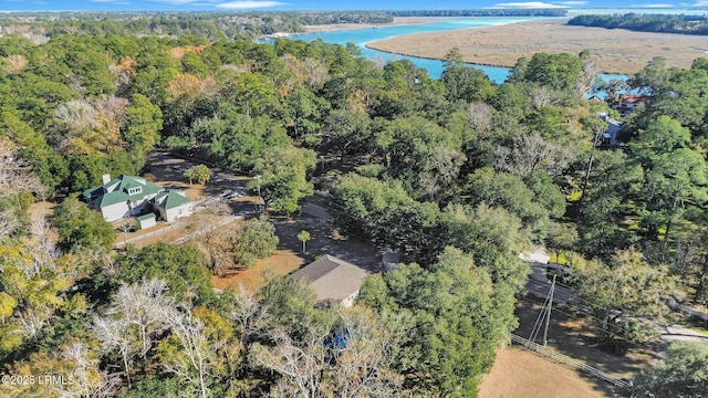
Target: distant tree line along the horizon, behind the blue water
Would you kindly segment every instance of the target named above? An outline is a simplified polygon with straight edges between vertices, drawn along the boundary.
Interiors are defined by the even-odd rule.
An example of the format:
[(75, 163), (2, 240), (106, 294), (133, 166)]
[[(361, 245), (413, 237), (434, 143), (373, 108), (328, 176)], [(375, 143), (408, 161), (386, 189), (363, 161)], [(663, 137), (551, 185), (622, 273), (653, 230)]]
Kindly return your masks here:
[(61, 12), (0, 15), (0, 34), (202, 35), (209, 40), (304, 32), (305, 25), (391, 23), (396, 17), (562, 17), (563, 10), (409, 10), (298, 12)]

